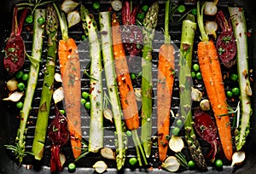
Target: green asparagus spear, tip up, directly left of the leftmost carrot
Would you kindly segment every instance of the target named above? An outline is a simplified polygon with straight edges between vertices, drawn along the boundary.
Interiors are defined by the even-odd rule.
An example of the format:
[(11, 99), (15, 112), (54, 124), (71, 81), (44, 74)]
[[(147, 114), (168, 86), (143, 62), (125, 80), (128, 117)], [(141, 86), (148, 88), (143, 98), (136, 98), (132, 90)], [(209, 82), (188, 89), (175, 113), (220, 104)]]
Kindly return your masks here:
[(44, 155), (44, 142), (48, 126), (50, 104), (53, 94), (54, 75), (55, 75), (55, 58), (57, 53), (57, 32), (59, 20), (54, 7), (47, 6), (47, 18), (45, 31), (48, 35), (48, 53), (46, 60), (46, 69), (44, 71), (44, 84), (41, 94), (40, 105), (38, 109), (38, 119), (35, 128), (35, 136), (32, 144), (32, 153), (35, 159), (42, 159)]

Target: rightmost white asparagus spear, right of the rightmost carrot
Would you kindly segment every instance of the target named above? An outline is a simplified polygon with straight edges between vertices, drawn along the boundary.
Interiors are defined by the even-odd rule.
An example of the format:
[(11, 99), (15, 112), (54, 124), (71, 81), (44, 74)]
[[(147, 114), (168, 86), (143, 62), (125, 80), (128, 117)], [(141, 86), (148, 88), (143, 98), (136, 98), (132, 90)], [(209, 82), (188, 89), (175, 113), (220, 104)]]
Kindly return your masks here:
[[(231, 23), (237, 46), (237, 72), (241, 100), (241, 120), (236, 133), (236, 150), (241, 150), (250, 131), (250, 118), (253, 113), (250, 96), (253, 95), (248, 76), (247, 24), (244, 10), (240, 7), (229, 7)], [(238, 115), (239, 117), (239, 115)]]

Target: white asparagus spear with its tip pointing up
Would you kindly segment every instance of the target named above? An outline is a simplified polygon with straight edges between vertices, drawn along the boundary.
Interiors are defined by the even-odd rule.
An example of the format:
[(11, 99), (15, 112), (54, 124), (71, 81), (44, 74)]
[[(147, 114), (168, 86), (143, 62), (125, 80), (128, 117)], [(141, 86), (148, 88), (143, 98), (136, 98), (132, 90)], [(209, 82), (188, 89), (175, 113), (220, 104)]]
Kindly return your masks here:
[(96, 21), (88, 9), (80, 7), (81, 20), (90, 44), (90, 136), (89, 152), (97, 152), (103, 147), (103, 94), (102, 94), (102, 56), (97, 38)]

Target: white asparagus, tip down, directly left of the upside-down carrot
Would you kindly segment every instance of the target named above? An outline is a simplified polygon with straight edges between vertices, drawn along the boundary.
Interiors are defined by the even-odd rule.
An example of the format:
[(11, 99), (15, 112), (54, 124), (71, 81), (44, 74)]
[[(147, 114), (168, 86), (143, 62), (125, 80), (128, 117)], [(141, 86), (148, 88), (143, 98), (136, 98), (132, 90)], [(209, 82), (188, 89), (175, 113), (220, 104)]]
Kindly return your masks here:
[[(110, 12), (100, 12), (99, 21), (101, 31), (107, 32), (103, 34), (101, 32), (102, 40), (102, 57), (105, 67), (105, 76), (108, 87), (108, 96), (111, 103), (113, 119), (115, 125), (116, 135), (116, 163), (118, 171), (125, 165), (125, 153), (127, 146), (127, 137), (125, 136), (125, 123), (123, 121), (123, 113), (119, 99), (119, 90), (116, 80), (117, 75), (115, 73), (114, 60), (113, 60), (113, 44), (111, 36), (111, 18)], [(135, 74), (136, 75), (136, 74)], [(126, 131), (127, 136), (131, 136), (131, 131)]]

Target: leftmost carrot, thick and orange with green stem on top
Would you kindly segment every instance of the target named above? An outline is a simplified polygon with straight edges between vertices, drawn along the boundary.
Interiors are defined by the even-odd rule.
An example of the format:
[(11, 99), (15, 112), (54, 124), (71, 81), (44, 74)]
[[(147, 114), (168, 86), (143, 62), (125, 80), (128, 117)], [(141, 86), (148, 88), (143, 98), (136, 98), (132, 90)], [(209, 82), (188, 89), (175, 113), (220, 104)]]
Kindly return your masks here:
[(79, 50), (75, 40), (67, 35), (67, 21), (63, 12), (53, 3), (58, 14), (62, 39), (59, 40), (58, 55), (61, 68), (62, 86), (64, 90), (64, 107), (67, 114), (68, 130), (73, 148), (74, 158), (81, 154), (81, 83)]

